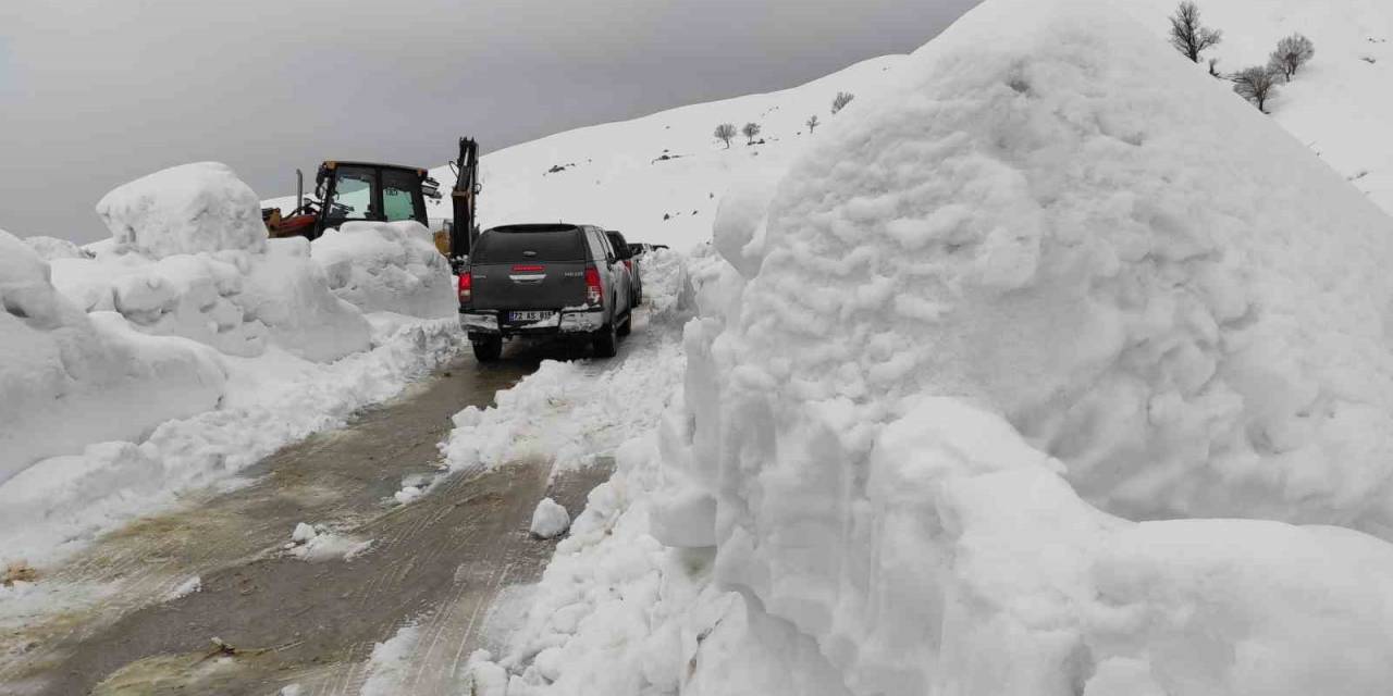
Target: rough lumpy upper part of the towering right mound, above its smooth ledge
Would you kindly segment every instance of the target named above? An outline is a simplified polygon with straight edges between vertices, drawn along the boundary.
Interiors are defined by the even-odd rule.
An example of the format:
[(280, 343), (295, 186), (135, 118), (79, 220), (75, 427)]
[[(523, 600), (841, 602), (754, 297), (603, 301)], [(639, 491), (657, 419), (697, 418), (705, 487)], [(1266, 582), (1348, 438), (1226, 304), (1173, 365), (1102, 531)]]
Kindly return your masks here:
[(826, 128), (768, 214), (742, 383), (848, 433), (961, 395), (1126, 516), (1382, 526), (1393, 223), (1138, 26), (1049, 26), (968, 18)]

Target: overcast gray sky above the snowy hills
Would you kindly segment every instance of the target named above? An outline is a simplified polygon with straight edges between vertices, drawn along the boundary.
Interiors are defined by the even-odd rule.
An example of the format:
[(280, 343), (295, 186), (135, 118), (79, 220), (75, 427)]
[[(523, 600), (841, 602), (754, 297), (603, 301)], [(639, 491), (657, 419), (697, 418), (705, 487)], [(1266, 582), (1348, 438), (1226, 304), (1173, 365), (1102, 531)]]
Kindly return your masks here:
[(0, 0), (0, 228), (106, 237), (113, 187), (220, 160), (439, 166), (905, 53), (976, 0)]

